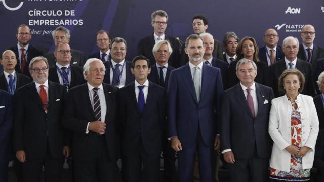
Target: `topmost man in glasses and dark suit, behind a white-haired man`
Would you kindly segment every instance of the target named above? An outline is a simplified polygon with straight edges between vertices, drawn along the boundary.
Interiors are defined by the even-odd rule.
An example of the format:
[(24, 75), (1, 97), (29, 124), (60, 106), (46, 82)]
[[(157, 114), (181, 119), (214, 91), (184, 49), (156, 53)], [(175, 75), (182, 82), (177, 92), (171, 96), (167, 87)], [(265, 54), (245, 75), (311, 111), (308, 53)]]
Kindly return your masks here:
[(178, 68), (180, 66), (180, 55), (182, 49), (182, 41), (178, 38), (165, 35), (168, 24), (168, 14), (163, 10), (156, 10), (151, 15), (151, 25), (154, 28), (153, 35), (142, 38), (137, 47), (138, 55), (143, 55), (150, 60), (150, 64), (155, 64), (154, 55), (152, 53), (153, 46), (160, 40), (169, 40), (173, 53), (170, 55), (169, 64)]

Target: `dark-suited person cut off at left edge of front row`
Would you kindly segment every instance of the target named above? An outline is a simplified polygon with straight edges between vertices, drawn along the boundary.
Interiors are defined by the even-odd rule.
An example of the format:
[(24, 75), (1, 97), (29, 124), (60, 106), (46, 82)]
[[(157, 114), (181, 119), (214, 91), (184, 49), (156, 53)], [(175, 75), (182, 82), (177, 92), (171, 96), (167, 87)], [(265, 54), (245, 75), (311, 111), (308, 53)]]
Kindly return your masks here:
[(13, 117), (12, 95), (0, 90), (0, 181), (8, 181), (8, 162), (12, 157), (10, 131)]

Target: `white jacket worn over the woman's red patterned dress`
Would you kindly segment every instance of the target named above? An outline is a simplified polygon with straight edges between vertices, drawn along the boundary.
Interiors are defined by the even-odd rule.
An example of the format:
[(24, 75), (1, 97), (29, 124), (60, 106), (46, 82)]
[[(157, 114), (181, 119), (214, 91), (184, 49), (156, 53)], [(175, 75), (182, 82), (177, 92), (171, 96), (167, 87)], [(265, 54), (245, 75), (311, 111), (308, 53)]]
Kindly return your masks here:
[[(311, 148), (303, 157), (302, 168), (313, 166), (315, 144), (319, 130), (316, 108), (311, 96), (298, 94), (295, 102), (298, 105), (302, 123), (302, 146)], [(289, 172), (291, 154), (285, 150), (291, 145), (291, 113), (292, 105), (287, 96), (271, 101), (269, 118), (269, 134), (273, 140), (270, 167)]]

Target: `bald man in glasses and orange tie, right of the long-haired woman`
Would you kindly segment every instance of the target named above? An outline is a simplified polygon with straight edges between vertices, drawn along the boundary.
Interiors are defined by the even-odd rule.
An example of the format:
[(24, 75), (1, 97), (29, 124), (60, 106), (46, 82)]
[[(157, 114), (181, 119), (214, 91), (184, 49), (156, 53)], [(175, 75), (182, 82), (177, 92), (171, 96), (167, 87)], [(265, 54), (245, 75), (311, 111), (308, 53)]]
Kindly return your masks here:
[(265, 46), (259, 48), (260, 61), (266, 63), (268, 66), (284, 58), (281, 47), (278, 45), (279, 35), (277, 31), (270, 28), (264, 32), (263, 41)]

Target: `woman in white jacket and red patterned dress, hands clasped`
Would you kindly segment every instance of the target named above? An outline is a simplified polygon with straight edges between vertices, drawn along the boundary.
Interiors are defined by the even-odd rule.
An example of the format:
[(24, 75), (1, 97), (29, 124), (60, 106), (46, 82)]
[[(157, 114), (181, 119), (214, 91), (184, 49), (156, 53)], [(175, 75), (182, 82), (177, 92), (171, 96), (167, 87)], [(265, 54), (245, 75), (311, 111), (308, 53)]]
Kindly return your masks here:
[(299, 94), (304, 83), (297, 69), (287, 69), (279, 77), (279, 89), (286, 95), (273, 99), (270, 110), (270, 181), (310, 179), (319, 123), (313, 98)]

